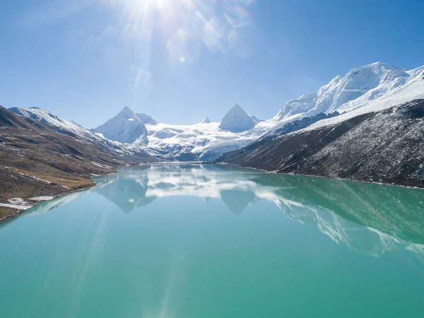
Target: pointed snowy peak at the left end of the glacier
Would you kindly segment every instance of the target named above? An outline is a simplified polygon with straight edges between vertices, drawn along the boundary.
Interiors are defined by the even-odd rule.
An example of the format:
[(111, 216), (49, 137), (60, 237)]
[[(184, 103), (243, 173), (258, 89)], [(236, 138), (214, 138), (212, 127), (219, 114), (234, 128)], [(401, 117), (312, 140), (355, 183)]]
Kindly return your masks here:
[[(141, 118), (151, 122), (154, 120), (150, 116), (141, 114)], [(146, 140), (147, 129), (139, 115), (129, 107), (117, 114), (117, 116), (108, 120), (105, 124), (93, 129), (96, 134), (102, 134), (105, 138), (119, 141), (120, 143), (134, 143), (134, 141)]]

